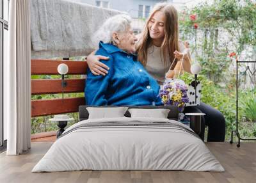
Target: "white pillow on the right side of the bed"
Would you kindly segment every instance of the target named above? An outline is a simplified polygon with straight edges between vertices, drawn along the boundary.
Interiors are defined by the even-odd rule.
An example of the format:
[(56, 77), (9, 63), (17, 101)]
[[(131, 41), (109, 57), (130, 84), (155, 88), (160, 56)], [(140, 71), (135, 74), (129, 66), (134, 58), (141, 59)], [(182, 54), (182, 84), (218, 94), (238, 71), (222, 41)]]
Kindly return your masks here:
[(131, 118), (150, 117), (150, 118), (167, 118), (170, 109), (128, 109)]

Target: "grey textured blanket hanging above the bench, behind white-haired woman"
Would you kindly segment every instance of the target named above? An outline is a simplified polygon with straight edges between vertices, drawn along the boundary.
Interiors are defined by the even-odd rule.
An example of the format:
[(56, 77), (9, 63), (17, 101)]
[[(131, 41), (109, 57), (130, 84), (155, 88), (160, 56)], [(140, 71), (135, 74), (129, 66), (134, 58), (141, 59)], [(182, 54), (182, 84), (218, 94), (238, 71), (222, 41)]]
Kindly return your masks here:
[(86, 56), (92, 35), (119, 12), (65, 0), (31, 0), (31, 57)]

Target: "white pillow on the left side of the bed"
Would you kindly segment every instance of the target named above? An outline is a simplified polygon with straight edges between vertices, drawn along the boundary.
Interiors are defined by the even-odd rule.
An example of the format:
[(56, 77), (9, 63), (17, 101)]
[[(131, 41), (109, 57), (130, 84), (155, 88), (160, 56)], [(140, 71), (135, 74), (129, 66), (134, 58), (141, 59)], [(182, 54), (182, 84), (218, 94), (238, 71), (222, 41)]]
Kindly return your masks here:
[(89, 113), (89, 119), (96, 118), (120, 118), (125, 117), (124, 114), (128, 107), (86, 107)]

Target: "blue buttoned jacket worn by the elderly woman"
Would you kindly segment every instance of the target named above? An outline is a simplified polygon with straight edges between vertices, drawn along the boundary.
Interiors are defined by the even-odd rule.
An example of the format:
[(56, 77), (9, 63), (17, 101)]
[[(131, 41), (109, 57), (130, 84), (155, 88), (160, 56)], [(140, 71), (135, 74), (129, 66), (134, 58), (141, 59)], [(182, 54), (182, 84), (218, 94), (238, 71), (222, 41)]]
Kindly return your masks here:
[(106, 76), (95, 76), (87, 70), (84, 95), (90, 106), (146, 106), (163, 104), (157, 81), (148, 74), (134, 54), (100, 42), (96, 54), (108, 56), (100, 60), (108, 65)]

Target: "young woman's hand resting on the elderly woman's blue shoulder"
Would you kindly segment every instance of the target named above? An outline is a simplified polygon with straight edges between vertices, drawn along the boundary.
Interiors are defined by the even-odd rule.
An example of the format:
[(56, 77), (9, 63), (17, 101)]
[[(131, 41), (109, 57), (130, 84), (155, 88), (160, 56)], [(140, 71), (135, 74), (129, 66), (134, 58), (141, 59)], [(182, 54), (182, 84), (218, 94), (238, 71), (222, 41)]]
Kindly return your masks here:
[(92, 74), (96, 76), (105, 76), (108, 74), (109, 67), (99, 60), (109, 60), (109, 58), (106, 56), (95, 55), (95, 52), (92, 52), (86, 59)]

